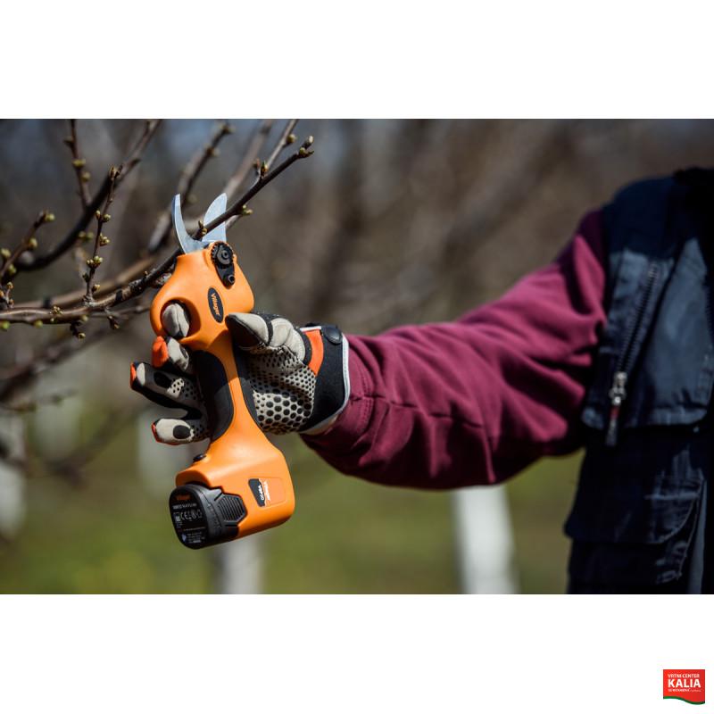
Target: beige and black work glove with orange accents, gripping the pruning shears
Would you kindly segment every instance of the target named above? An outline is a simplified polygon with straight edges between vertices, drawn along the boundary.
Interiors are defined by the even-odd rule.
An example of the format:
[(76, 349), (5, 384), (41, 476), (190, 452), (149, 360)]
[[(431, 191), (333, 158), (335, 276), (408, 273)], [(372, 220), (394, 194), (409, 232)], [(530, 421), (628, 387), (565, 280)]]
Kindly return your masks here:
[[(162, 314), (169, 337), (154, 340), (152, 364), (131, 365), (131, 388), (162, 406), (183, 409), (178, 419), (157, 419), (154, 437), (163, 444), (209, 438), (210, 424), (195, 378), (187, 336), (187, 311), (173, 303)], [(350, 394), (348, 344), (333, 325), (295, 328), (285, 318), (236, 312), (226, 317), (238, 373), (250, 384), (258, 426), (271, 434), (319, 434), (345, 408)], [(241, 367), (243, 369), (241, 369)]]

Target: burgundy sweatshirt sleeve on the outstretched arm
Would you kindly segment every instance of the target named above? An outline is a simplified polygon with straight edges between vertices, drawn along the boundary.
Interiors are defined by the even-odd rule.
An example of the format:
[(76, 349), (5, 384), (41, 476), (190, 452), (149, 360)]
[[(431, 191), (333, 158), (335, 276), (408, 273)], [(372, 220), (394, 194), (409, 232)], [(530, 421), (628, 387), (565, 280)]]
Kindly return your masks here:
[(604, 324), (602, 219), (560, 256), (459, 320), (348, 336), (351, 395), (305, 442), (336, 469), (393, 486), (502, 481), (581, 444)]

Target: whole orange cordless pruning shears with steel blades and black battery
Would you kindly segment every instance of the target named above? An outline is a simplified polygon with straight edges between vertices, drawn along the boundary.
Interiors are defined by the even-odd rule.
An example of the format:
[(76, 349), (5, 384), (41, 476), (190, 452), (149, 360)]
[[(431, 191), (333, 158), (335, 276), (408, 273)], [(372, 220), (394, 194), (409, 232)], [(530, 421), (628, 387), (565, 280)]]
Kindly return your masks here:
[[(226, 212), (227, 200), (221, 194), (213, 201), (204, 225)], [(172, 218), (183, 254), (154, 297), (150, 319), (154, 332), (166, 336), (162, 312), (168, 304), (181, 303), (190, 317), (179, 342), (192, 354), (211, 444), (177, 474), (169, 508), (181, 543), (203, 548), (285, 522), (295, 494), (283, 454), (258, 428), (244, 358), (224, 321), (231, 312), (253, 310), (253, 291), (226, 242), (226, 224), (201, 240), (190, 237), (179, 195)]]

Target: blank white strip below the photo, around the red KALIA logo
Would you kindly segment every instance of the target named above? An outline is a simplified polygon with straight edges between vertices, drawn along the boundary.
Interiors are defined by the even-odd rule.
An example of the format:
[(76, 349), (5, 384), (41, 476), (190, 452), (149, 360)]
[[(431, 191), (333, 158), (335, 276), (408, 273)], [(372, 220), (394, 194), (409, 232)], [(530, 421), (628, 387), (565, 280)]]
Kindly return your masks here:
[(661, 670), (712, 665), (707, 596), (78, 595), (0, 605), (3, 710), (13, 714), (679, 711), (662, 699)]

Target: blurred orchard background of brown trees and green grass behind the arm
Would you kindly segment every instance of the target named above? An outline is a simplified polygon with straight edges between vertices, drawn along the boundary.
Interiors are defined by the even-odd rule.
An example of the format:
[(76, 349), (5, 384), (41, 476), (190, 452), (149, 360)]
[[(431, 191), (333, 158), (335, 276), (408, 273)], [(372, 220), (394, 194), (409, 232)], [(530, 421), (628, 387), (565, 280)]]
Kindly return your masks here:
[[(227, 182), (234, 195), (249, 187), (253, 161), (286, 136), (286, 120), (228, 123), (230, 133), (215, 120), (79, 120), (67, 145), (68, 121), (0, 121), (0, 246), (12, 251), (41, 211), (55, 220), (34, 232), (34, 254), (70, 236), (138, 142), (96, 271), (97, 282), (120, 284), (137, 260), (147, 269), (173, 250), (166, 209), (178, 187), (184, 215), (199, 219)], [(708, 120), (300, 120), (292, 130), (295, 146), (273, 165), (308, 136), (314, 155), (256, 195), (228, 239), (257, 307), (348, 333), (451, 320), (550, 261), (618, 187), (714, 163)], [(92, 243), (73, 237), (46, 268), (20, 270), (15, 304), (83, 292)], [(128, 385), (129, 363), (149, 357), (152, 295), (74, 328), (3, 326), (0, 591), (563, 591), (578, 454), (457, 496), (342, 476), (287, 436), (278, 445), (295, 479), (293, 519), (183, 548), (166, 501), (200, 449), (156, 444), (161, 410)]]

